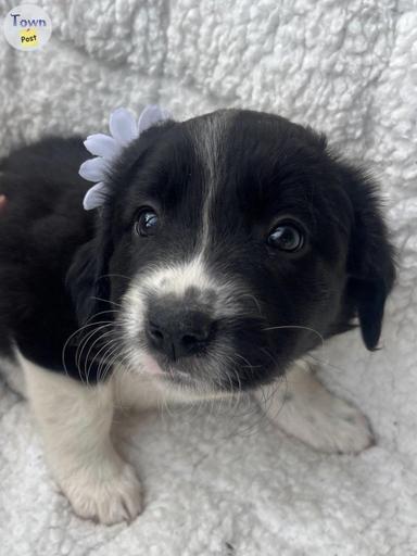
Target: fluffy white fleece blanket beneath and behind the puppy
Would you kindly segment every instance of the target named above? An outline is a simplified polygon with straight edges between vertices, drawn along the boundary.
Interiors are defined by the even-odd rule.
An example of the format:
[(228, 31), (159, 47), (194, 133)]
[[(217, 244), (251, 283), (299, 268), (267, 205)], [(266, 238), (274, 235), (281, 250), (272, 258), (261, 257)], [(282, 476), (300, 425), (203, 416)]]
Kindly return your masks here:
[(325, 381), (369, 416), (376, 447), (315, 454), (255, 409), (151, 416), (128, 446), (147, 493), (130, 526), (72, 514), (26, 404), (0, 387), (1, 555), (415, 555), (416, 1), (39, 3), (54, 24), (45, 50), (0, 39), (2, 153), (46, 131), (100, 131), (119, 105), (159, 103), (179, 118), (219, 106), (276, 112), (328, 132), (379, 176), (400, 278), (382, 351), (367, 353), (353, 332), (321, 354)]

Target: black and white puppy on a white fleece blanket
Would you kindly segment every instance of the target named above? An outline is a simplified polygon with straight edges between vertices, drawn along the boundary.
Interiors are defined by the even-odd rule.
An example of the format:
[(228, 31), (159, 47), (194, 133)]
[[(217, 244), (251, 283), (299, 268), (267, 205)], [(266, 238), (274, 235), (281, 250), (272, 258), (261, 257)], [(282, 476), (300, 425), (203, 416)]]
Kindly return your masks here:
[(252, 390), (317, 450), (368, 446), (366, 419), (305, 356), (356, 317), (377, 346), (394, 266), (374, 182), (312, 129), (238, 110), (150, 128), (96, 214), (87, 157), (81, 139), (50, 138), (0, 166), (0, 365), (23, 369), (75, 511), (140, 510), (110, 438), (115, 405)]

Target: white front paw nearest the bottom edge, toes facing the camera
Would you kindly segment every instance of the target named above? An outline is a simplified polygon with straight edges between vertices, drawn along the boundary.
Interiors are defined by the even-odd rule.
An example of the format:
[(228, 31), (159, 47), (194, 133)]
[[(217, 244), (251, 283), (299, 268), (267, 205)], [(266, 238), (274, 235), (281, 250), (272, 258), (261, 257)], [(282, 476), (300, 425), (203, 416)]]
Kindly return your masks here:
[(60, 481), (74, 511), (85, 519), (113, 525), (130, 521), (142, 508), (140, 482), (125, 462), (73, 473)]

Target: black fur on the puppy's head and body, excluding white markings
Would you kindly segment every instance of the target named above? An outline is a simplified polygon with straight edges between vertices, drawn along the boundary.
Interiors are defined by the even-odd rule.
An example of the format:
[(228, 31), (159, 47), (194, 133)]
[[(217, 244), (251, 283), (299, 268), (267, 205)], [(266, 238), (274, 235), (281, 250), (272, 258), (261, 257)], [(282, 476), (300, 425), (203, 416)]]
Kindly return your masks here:
[[(330, 337), (357, 316), (366, 346), (376, 349), (394, 265), (374, 181), (309, 128), (250, 111), (218, 117), (227, 126), (207, 264), (256, 300), (256, 307), (242, 301), (236, 318), (218, 323), (219, 337), (249, 362), (236, 380), (242, 388), (266, 382), (320, 343), (303, 328), (274, 327)], [(0, 353), (10, 354), (15, 342), (26, 357), (63, 371), (67, 338), (109, 309), (109, 301), (118, 303), (130, 278), (192, 256), (212, 187), (195, 154), (204, 118), (213, 116), (156, 126), (125, 149), (97, 214), (81, 206), (90, 185), (78, 177), (88, 157), (80, 139), (47, 139), (1, 162), (8, 205), (0, 215)], [(132, 232), (142, 205), (162, 215), (154, 237)], [(302, 252), (267, 245), (280, 215), (306, 228)], [(79, 341), (75, 334), (66, 349), (75, 378), (84, 378), (75, 361)], [(89, 357), (93, 381), (93, 351)]]

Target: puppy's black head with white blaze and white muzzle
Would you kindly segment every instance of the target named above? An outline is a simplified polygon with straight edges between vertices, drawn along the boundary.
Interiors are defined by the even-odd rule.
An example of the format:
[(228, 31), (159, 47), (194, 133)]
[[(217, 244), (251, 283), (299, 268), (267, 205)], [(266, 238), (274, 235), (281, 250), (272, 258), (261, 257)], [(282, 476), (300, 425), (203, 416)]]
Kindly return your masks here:
[(376, 348), (392, 250), (372, 182), (324, 137), (249, 111), (167, 122), (109, 185), (68, 281), (81, 324), (112, 315), (128, 368), (247, 389), (356, 316)]

